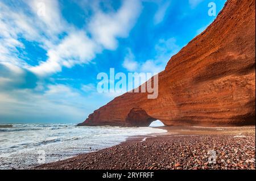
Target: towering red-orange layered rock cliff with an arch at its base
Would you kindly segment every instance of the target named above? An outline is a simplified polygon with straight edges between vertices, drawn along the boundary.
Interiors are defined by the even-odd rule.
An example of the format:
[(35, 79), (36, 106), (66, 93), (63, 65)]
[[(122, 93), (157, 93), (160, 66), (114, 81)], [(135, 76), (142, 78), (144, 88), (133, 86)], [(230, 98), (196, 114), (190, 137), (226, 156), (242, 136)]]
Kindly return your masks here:
[(228, 0), (159, 73), (159, 94), (118, 96), (79, 125), (255, 124), (255, 1)]

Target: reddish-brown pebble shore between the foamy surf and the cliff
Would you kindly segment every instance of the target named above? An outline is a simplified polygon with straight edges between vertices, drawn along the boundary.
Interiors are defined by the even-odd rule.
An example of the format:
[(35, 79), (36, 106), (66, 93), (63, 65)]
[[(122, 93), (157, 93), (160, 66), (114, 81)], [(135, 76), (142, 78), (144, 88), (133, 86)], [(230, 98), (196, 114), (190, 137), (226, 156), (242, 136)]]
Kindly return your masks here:
[[(32, 169), (255, 169), (255, 126), (154, 128), (167, 132)], [(216, 164), (208, 162), (209, 150), (216, 151)]]

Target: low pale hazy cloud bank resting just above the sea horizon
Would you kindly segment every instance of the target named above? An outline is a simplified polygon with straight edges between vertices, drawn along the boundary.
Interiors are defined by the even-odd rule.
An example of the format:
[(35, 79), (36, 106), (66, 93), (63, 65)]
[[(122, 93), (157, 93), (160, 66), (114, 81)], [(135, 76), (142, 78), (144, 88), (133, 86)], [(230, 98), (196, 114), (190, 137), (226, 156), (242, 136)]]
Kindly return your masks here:
[[(7, 119), (11, 117), (13, 121), (16, 119), (25, 122), (59, 121), (64, 123), (69, 121), (79, 123), (100, 106), (94, 97), (82, 95), (79, 90), (68, 85), (46, 85), (40, 89), (43, 92), (36, 92), (32, 89), (1, 90), (1, 88), (1, 121), (8, 121), (5, 117)], [(91, 104), (92, 102), (94, 104)]]

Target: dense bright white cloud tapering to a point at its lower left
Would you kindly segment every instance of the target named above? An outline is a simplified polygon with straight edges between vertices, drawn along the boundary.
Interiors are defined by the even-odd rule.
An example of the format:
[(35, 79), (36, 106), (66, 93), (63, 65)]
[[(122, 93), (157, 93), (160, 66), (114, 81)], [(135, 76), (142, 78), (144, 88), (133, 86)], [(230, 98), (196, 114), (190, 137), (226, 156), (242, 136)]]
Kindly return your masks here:
[(97, 45), (84, 32), (75, 31), (65, 37), (59, 45), (47, 52), (48, 60), (29, 68), (38, 75), (61, 71), (61, 67), (72, 68), (75, 64), (88, 63), (95, 57)]

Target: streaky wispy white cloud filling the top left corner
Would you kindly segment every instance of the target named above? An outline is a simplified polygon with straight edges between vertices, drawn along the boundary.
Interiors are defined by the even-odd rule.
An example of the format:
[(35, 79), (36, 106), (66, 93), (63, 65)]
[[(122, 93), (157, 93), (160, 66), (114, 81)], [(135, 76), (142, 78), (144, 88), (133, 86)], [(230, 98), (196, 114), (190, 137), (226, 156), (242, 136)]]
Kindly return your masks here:
[(29, 14), (30, 11), (25, 8), (26, 6), (22, 7), (6, 6), (0, 2), (0, 64), (13, 64), (20, 68), (27, 68), (29, 65), (26, 60), (19, 56), (18, 48), (24, 49), (20, 38), (36, 41), (44, 48), (52, 46), (53, 41), (49, 39), (46, 32), (51, 32), (51, 29), (42, 26), (42, 19)]

